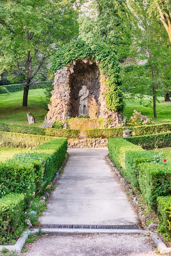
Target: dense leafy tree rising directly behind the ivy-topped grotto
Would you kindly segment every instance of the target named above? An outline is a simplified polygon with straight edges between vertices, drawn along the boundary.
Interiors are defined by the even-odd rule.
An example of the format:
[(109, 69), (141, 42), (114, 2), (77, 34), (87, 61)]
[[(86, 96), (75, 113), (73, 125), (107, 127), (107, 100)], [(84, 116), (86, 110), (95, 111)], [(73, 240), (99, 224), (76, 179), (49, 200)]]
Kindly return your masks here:
[(79, 37), (88, 43), (105, 43), (120, 61), (128, 56), (131, 23), (126, 0), (93, 0), (79, 19)]

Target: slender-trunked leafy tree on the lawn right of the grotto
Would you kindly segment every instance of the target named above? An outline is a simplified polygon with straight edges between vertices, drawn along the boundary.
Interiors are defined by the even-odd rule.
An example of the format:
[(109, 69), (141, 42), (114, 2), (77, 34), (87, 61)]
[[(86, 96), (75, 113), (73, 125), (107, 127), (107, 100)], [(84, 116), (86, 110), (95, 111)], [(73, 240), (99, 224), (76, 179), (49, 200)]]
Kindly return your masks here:
[(150, 4), (145, 0), (129, 0), (133, 21), (132, 56), (146, 61), (149, 68), (148, 87), (153, 96), (154, 117), (157, 117), (157, 90), (163, 88), (171, 63), (171, 47), (164, 27), (155, 13), (149, 15)]

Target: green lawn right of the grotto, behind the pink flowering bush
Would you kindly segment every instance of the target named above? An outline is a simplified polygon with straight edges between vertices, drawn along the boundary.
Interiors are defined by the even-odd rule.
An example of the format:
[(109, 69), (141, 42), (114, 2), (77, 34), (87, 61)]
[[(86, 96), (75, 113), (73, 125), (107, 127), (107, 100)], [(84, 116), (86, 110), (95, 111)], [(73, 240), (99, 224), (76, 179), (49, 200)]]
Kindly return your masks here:
[[(164, 97), (158, 98), (160, 103), (157, 102), (157, 118), (154, 118), (153, 107), (145, 107), (139, 104), (139, 100), (128, 101), (126, 100), (126, 107), (123, 115), (127, 116), (128, 120), (132, 116), (133, 111), (137, 110), (148, 118), (153, 119), (155, 124), (171, 122), (171, 103), (164, 103)], [(145, 97), (145, 105), (149, 103), (149, 98)], [(129, 122), (128, 122), (129, 124)]]

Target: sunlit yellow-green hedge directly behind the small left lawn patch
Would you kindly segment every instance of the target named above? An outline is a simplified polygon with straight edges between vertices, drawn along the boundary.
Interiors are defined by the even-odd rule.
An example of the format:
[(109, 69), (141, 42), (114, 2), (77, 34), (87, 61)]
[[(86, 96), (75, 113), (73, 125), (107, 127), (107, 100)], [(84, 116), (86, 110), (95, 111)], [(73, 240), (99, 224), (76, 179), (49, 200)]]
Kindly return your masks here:
[(0, 145), (3, 147), (34, 148), (53, 139), (54, 138), (50, 136), (0, 131)]

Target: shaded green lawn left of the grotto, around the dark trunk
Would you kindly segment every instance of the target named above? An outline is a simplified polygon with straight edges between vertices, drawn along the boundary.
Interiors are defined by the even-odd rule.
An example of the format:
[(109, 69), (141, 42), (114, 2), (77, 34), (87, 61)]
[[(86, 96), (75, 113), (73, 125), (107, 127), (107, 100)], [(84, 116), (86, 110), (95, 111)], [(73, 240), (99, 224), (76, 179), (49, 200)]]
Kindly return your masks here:
[(27, 112), (31, 112), (35, 116), (35, 125), (42, 125), (48, 112), (43, 108), (44, 90), (29, 90), (28, 107), (22, 107), (23, 91), (0, 94), (0, 122), (28, 125)]

